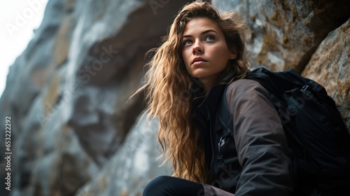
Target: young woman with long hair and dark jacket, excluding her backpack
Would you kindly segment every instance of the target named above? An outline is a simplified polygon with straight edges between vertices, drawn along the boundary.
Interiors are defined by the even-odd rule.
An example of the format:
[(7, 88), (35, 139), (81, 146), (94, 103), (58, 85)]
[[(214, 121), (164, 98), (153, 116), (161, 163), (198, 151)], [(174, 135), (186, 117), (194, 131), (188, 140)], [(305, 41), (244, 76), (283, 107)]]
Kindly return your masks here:
[[(160, 120), (158, 140), (174, 176), (153, 179), (144, 196), (291, 195), (279, 116), (264, 87), (244, 79), (250, 32), (237, 13), (219, 14), (209, 3), (179, 11), (139, 90)], [(220, 126), (223, 96), (233, 130)]]

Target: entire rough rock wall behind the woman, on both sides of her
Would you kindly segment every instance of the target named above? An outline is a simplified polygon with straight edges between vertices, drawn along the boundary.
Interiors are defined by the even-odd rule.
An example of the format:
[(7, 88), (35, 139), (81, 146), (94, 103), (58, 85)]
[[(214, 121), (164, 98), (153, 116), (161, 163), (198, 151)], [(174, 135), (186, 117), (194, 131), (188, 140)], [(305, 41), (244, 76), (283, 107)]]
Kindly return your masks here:
[[(141, 195), (154, 176), (171, 174), (155, 160), (158, 124), (141, 118), (142, 94), (128, 98), (141, 85), (145, 53), (187, 2), (48, 2), (0, 99), (13, 152), (11, 191), (3, 195)], [(244, 15), (255, 66), (293, 68), (324, 85), (350, 130), (348, 1), (212, 3)]]

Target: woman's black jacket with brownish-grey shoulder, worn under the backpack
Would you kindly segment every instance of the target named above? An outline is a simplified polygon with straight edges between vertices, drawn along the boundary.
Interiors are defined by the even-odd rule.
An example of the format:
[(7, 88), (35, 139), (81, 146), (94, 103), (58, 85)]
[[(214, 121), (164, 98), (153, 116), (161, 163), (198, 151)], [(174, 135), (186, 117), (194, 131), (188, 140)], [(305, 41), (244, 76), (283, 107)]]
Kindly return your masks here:
[(210, 169), (207, 183), (235, 195), (291, 195), (286, 137), (267, 91), (247, 79), (228, 86), (230, 130), (218, 115), (225, 87), (212, 87), (193, 104)]

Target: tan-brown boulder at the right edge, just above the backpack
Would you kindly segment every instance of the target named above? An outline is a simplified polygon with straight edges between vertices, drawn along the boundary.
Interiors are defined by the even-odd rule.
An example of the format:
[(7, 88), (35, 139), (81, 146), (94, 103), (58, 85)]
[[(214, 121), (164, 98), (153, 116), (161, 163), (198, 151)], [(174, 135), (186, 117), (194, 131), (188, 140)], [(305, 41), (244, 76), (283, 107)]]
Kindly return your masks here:
[(325, 87), (350, 134), (350, 19), (331, 31), (318, 45), (302, 76)]

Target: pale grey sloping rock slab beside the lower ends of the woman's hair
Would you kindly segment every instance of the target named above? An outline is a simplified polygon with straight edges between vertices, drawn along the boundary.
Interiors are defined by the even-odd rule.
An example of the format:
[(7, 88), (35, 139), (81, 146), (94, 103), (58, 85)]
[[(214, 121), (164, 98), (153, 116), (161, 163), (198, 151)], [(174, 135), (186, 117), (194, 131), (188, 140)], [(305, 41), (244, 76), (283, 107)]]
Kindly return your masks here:
[(146, 183), (155, 176), (171, 175), (169, 165), (159, 167), (158, 120), (139, 116), (125, 142), (97, 176), (78, 190), (83, 195), (142, 195)]

